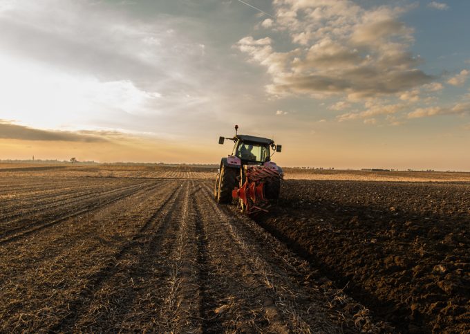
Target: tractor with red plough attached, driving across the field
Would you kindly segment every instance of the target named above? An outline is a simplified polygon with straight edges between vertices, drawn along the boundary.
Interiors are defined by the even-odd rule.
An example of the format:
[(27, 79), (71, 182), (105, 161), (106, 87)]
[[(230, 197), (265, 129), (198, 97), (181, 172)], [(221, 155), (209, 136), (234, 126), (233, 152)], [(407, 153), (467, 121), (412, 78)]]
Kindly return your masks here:
[[(235, 125), (234, 150), (222, 158), (218, 169), (214, 198), (217, 203), (237, 203), (247, 214), (267, 212), (272, 201), (279, 198), (283, 171), (271, 161), (274, 152), (281, 152), (281, 145), (262, 137), (239, 135)], [(272, 150), (272, 153), (271, 153)]]

